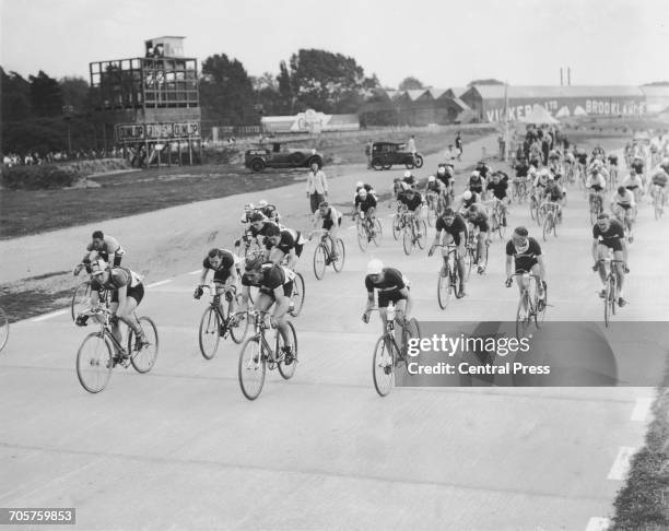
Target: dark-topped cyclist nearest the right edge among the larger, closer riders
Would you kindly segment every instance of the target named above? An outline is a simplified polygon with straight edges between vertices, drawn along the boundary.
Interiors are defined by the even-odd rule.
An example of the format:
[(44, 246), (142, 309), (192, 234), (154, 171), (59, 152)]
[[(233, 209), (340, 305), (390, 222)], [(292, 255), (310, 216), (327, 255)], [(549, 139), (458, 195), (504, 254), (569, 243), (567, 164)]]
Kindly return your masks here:
[(602, 212), (597, 216), (597, 223), (592, 226), (592, 260), (595, 260), (592, 271), (599, 271), (599, 279), (602, 285), (599, 294), (601, 298), (607, 296), (607, 271), (603, 262), (599, 260), (608, 256), (609, 249), (613, 250), (613, 259), (623, 261), (622, 264), (615, 264), (615, 275), (618, 276), (618, 293), (615, 296), (618, 297), (618, 305), (624, 306), (626, 303), (623, 298), (623, 282), (625, 280), (623, 271), (625, 273), (630, 272), (626, 266), (627, 246), (625, 244), (625, 229), (618, 220), (611, 220), (609, 214)]

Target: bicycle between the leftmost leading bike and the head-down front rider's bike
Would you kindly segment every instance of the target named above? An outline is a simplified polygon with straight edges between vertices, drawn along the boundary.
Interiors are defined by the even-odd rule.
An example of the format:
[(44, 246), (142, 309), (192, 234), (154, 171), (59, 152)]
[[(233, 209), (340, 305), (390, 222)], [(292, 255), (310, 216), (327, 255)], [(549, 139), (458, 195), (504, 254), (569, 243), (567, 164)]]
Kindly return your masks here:
[[(244, 341), (246, 331), (248, 330), (248, 320), (246, 319), (246, 311), (235, 311), (226, 316), (226, 309), (221, 309), (221, 295), (215, 293), (215, 288), (209, 284), (202, 284), (198, 287), (207, 287), (212, 294), (209, 307), (204, 310), (200, 319), (200, 330), (198, 333), (200, 353), (204, 359), (211, 359), (219, 349), (221, 338), (226, 339), (230, 334), (232, 340), (237, 344)], [(228, 297), (232, 296), (236, 297), (238, 302), (242, 295), (236, 295), (234, 286), (230, 287), (231, 290), (225, 292), (226, 300), (230, 302)]]

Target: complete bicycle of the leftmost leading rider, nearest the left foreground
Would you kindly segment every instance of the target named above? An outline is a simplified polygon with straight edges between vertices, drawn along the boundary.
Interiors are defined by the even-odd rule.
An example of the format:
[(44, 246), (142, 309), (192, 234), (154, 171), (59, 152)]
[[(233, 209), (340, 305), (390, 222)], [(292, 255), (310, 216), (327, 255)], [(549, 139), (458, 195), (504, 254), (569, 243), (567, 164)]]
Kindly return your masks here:
[[(77, 376), (86, 391), (97, 393), (105, 389), (116, 365), (124, 368), (132, 365), (134, 370), (142, 374), (153, 368), (159, 354), (159, 335), (149, 317), (138, 319), (146, 343), (136, 341), (134, 331), (130, 328), (126, 350), (111, 333), (113, 315), (109, 309), (101, 307), (86, 314), (97, 317), (99, 321), (99, 330), (86, 335), (77, 352)], [(114, 349), (118, 354), (114, 354)]]

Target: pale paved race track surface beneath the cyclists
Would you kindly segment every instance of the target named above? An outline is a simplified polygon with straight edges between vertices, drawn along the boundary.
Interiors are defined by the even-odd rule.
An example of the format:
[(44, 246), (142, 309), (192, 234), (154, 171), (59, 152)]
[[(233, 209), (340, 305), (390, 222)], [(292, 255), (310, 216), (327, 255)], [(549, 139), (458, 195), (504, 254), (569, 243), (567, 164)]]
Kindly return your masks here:
[[(427, 157), (425, 168), (437, 158)], [(351, 170), (331, 181), (331, 197), (343, 203), (356, 180), (383, 189), (399, 175)], [(306, 226), (303, 187), (268, 193), (298, 228)], [(202, 203), (201, 233), (214, 220), (234, 223), (245, 200)], [(210, 203), (220, 217), (208, 214)], [(180, 273), (148, 281), (139, 314), (159, 327), (156, 365), (146, 375), (115, 368), (99, 394), (82, 389), (74, 367), (91, 327), (75, 328), (69, 314), (12, 324), (0, 354), (0, 507), (75, 507), (77, 529), (603, 529), (629, 458), (643, 444), (654, 390), (482, 384), (396, 388), (379, 398), (372, 351), (380, 323), (377, 316), (361, 321), (372, 256), (412, 281), (414, 315), (423, 321), (509, 321), (518, 297), (504, 286), (496, 238), (486, 273), (472, 273), (467, 297), (441, 310), (441, 258), (426, 250), (404, 256), (390, 213), (380, 205), (384, 238), (366, 253), (344, 221), (344, 270), (328, 269), (322, 281), (312, 271), (314, 244), (305, 246), (298, 270), (306, 300), (294, 320), (300, 364), (290, 381), (271, 373), (255, 402), (239, 391), (238, 345), (222, 341), (211, 361), (198, 347), (207, 302), (192, 299), (193, 273), (207, 249), (228, 246), (227, 237), (203, 243)], [(512, 210), (509, 226), (517, 224), (539, 236), (525, 205)], [(622, 321), (669, 316), (666, 226), (642, 204), (630, 304), (602, 332), (627, 375), (635, 353), (657, 349), (662, 330), (621, 334)], [(602, 321), (590, 241), (585, 199), (572, 191), (559, 237), (542, 243), (549, 320)], [(659, 380), (664, 359), (653, 363)]]

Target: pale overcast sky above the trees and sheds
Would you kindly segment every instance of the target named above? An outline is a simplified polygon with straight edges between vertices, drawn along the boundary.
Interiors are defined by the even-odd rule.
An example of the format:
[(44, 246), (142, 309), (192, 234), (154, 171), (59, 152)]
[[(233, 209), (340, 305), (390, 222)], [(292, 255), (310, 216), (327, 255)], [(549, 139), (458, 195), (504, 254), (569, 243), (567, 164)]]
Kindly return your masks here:
[(578, 85), (669, 81), (669, 0), (0, 0), (0, 66), (24, 78), (89, 80), (89, 62), (141, 57), (163, 35), (256, 76), (319, 48), (387, 87), (559, 85), (561, 67)]

